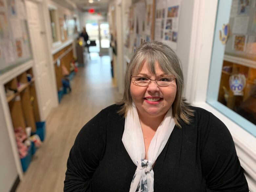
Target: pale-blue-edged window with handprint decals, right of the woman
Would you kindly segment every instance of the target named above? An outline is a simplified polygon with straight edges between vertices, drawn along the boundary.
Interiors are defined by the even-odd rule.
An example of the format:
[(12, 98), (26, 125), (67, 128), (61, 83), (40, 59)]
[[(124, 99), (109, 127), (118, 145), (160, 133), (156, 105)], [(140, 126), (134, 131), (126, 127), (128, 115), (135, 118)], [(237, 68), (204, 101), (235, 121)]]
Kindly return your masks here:
[(256, 136), (256, 1), (219, 0), (207, 102)]

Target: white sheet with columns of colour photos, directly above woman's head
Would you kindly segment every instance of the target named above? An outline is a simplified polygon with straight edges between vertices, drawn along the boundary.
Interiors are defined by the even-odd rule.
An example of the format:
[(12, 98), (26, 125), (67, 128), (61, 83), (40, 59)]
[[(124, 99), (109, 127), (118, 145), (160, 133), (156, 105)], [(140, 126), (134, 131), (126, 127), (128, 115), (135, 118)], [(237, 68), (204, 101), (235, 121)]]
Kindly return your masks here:
[(165, 23), (163, 42), (169, 45), (172, 49), (177, 50), (181, 0), (167, 0), (166, 7), (167, 18)]

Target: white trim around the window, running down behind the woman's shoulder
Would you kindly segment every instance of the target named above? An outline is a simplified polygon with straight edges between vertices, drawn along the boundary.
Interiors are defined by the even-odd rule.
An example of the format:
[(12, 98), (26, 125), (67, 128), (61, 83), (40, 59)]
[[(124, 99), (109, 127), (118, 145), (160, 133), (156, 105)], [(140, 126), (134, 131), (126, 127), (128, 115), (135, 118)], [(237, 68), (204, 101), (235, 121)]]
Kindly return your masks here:
[(206, 103), (217, 7), (218, 0), (194, 1), (188, 77), (184, 94), (192, 105), (210, 111), (227, 126), (241, 165), (245, 169), (249, 190), (256, 192), (256, 138)]

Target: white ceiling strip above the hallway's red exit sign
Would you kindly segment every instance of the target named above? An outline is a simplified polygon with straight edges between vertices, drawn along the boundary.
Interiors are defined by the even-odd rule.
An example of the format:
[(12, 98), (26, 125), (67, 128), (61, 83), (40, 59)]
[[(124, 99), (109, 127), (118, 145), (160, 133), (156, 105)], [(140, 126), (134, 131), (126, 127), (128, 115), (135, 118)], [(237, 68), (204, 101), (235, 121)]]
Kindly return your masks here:
[(69, 9), (79, 9), (80, 11), (88, 11), (89, 9), (95, 9), (96, 12), (107, 12), (108, 4), (111, 0), (93, 0), (93, 3), (89, 3), (89, 0), (53, 0), (59, 5), (67, 7)]

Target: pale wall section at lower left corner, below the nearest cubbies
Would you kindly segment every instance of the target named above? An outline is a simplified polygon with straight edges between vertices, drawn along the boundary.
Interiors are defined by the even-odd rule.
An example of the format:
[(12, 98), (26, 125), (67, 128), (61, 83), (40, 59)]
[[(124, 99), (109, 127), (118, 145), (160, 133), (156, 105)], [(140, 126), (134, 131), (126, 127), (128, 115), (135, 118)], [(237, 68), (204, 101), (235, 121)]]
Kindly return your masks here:
[(10, 191), (18, 176), (11, 148), (11, 141), (5, 121), (2, 103), (0, 102), (0, 191)]

